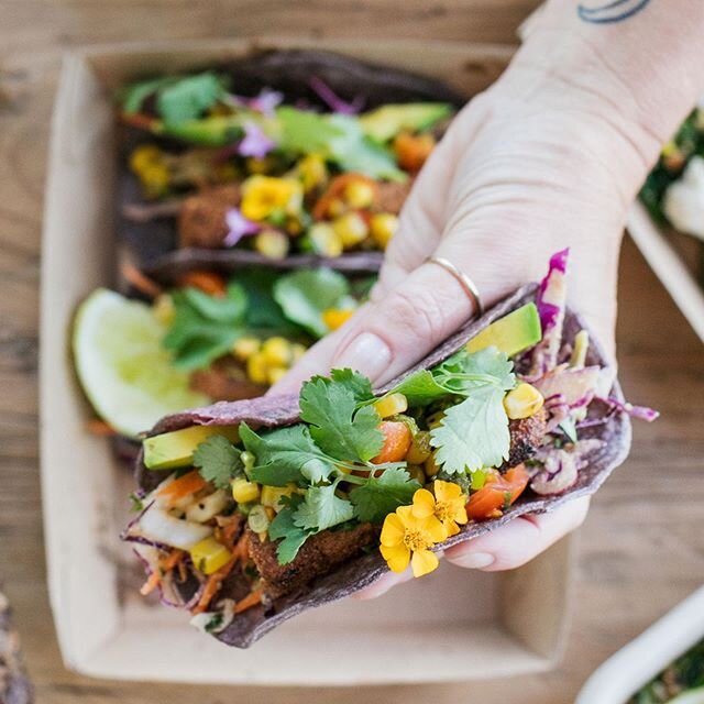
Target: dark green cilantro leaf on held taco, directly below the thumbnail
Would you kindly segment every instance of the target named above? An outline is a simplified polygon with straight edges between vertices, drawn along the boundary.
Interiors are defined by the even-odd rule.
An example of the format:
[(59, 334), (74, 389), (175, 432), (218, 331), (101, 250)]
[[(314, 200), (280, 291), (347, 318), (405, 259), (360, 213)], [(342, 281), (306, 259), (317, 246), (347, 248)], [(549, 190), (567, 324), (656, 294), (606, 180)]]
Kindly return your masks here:
[(384, 443), (381, 418), (373, 406), (355, 413), (353, 387), (350, 382), (315, 376), (300, 389), (300, 417), (310, 424), (312, 439), (329, 457), (369, 462)]

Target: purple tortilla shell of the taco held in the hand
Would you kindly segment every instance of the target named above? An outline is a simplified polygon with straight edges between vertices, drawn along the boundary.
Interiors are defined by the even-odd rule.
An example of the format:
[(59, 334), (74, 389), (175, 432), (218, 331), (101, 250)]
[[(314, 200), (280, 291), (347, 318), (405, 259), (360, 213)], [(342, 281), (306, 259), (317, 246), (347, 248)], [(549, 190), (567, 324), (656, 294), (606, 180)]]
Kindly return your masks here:
[[(461, 349), (469, 340), (486, 328), (491, 322), (503, 318), (505, 315), (520, 306), (535, 301), (536, 285), (529, 285), (517, 290), (513, 296), (499, 302), (488, 310), (481, 319), (466, 324), (459, 332), (449, 338), (440, 346), (433, 350), (425, 360), (415, 367), (408, 370), (398, 378), (389, 382), (378, 394), (397, 385), (404, 377), (424, 369), (429, 370), (448, 356)], [(584, 320), (574, 311), (568, 309), (565, 314), (563, 341), (572, 340), (576, 332), (588, 329)], [(604, 353), (597, 340), (591, 336), (590, 350), (586, 358), (587, 365), (609, 367), (610, 361)], [(624, 402), (624, 396), (617, 381), (614, 381), (609, 393), (610, 398)], [(450, 546), (470, 540), (485, 532), (503, 526), (518, 516), (525, 514), (538, 514), (553, 510), (563, 504), (587, 496), (596, 492), (612, 471), (627, 457), (630, 448), (631, 430), (630, 419), (627, 414), (614, 410), (593, 400), (590, 404), (588, 418), (595, 422), (580, 430), (580, 440), (601, 440), (601, 446), (595, 447), (586, 455), (586, 466), (580, 470), (578, 481), (562, 494), (539, 496), (526, 491), (518, 501), (510, 506), (499, 518), (487, 519), (481, 522), (469, 522), (461, 531), (436, 546), (436, 550), (442, 550)], [(237, 403), (219, 403), (206, 408), (174, 414), (163, 418), (148, 433), (150, 436), (187, 428), (189, 426), (232, 426), (242, 421), (253, 428), (276, 428), (295, 424), (299, 420), (298, 396), (262, 397), (252, 400)], [(596, 443), (593, 443), (596, 446)], [(142, 455), (136, 462), (136, 479), (140, 486), (151, 491), (170, 472), (154, 472), (146, 470)], [(258, 640), (264, 634), (293, 616), (329, 602), (334, 602), (358, 592), (372, 584), (382, 574), (388, 571), (386, 563), (378, 551), (362, 553), (346, 560), (331, 573), (314, 580), (304, 588), (275, 598), (272, 606), (265, 608), (262, 605), (239, 614), (232, 623), (222, 631), (213, 634), (218, 639), (230, 646), (246, 648)], [(242, 598), (249, 591), (249, 586), (239, 574), (231, 574), (219, 593), (218, 598)], [(184, 595), (186, 598), (188, 595)]]

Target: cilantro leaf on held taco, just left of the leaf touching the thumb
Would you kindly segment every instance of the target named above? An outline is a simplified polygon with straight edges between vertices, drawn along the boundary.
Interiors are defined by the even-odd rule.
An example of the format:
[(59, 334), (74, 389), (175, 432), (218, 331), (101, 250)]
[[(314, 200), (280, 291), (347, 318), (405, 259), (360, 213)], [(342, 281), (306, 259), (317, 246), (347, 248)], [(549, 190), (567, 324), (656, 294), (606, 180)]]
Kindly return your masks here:
[(302, 425), (277, 428), (257, 436), (243, 422), (240, 425), (240, 438), (256, 458), (250, 477), (261, 484), (316, 483), (330, 476), (334, 469)]

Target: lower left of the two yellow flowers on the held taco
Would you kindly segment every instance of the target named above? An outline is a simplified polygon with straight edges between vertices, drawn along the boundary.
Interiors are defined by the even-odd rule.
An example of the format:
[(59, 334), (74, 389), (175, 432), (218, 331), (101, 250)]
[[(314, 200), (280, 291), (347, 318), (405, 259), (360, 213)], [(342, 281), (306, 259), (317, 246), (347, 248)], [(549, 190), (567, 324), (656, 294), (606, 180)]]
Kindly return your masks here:
[(403, 572), (410, 562), (414, 576), (422, 576), (438, 566), (438, 556), (429, 548), (444, 538), (446, 530), (435, 516), (416, 518), (411, 506), (399, 506), (384, 520), (380, 550), (392, 572)]

